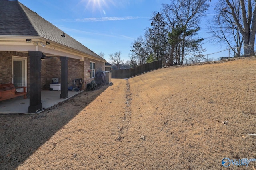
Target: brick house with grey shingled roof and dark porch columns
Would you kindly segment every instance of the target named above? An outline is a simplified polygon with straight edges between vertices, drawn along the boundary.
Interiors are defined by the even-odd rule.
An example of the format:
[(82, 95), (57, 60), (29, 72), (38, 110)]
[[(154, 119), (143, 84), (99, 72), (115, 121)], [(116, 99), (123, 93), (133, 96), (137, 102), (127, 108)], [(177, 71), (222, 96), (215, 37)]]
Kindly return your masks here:
[(105, 63), (19, 1), (0, 0), (0, 84), (26, 86), (29, 112), (42, 109), (41, 90), (50, 88), (52, 78), (59, 78), (60, 98), (68, 98), (74, 79), (82, 78), (86, 87)]

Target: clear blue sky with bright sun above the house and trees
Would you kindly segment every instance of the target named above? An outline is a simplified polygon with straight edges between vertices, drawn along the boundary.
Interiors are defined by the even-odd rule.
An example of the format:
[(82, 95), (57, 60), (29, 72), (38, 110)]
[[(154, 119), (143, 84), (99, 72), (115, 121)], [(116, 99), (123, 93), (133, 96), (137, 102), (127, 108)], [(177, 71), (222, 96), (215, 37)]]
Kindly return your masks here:
[[(121, 51), (121, 59), (129, 60), (132, 42), (144, 35), (150, 27), (153, 11), (160, 11), (170, 0), (19, 0), (41, 17), (94, 51), (109, 55)], [(214, 5), (217, 0), (212, 0)], [(199, 37), (207, 37), (206, 19), (203, 18)], [(207, 53), (221, 48), (204, 41)], [(214, 57), (213, 55), (209, 57)], [(216, 56), (218, 57), (218, 56)]]

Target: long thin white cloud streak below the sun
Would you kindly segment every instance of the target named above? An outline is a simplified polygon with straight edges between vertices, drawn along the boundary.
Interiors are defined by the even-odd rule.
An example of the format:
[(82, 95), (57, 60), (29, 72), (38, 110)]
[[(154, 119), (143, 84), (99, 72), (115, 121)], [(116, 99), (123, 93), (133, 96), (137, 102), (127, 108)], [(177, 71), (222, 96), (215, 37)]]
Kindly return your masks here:
[[(131, 17), (131, 16), (127, 16), (127, 17), (100, 17), (100, 18), (78, 18), (75, 19), (76, 22), (102, 22), (102, 21), (118, 21), (118, 20), (135, 20), (138, 19), (140, 17)], [(64, 20), (66, 21), (66, 20)]]

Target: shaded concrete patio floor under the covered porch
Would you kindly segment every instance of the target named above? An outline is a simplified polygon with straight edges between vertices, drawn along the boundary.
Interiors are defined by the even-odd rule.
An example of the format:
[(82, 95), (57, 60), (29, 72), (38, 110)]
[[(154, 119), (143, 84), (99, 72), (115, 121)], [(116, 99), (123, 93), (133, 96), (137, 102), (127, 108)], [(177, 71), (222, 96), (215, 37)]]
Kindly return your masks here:
[[(80, 91), (81, 92), (81, 91)], [(61, 99), (61, 91), (48, 91), (42, 90), (41, 102), (44, 109), (47, 109), (59, 102), (67, 100), (80, 92), (68, 91), (68, 98)], [(28, 113), (29, 99), (13, 98), (4, 101), (0, 101), (0, 114), (17, 114), (17, 113)]]

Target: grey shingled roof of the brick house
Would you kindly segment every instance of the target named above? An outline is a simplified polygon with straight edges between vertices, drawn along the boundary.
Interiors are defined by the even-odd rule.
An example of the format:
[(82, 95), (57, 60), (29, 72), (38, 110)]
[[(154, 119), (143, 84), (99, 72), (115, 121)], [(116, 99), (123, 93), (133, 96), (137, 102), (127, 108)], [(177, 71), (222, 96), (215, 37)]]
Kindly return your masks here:
[(76, 51), (86, 53), (94, 59), (106, 62), (105, 59), (88, 49), (74, 38), (65, 34), (58, 27), (40, 17), (19, 1), (0, 0), (0, 37), (30, 36), (42, 37)]

